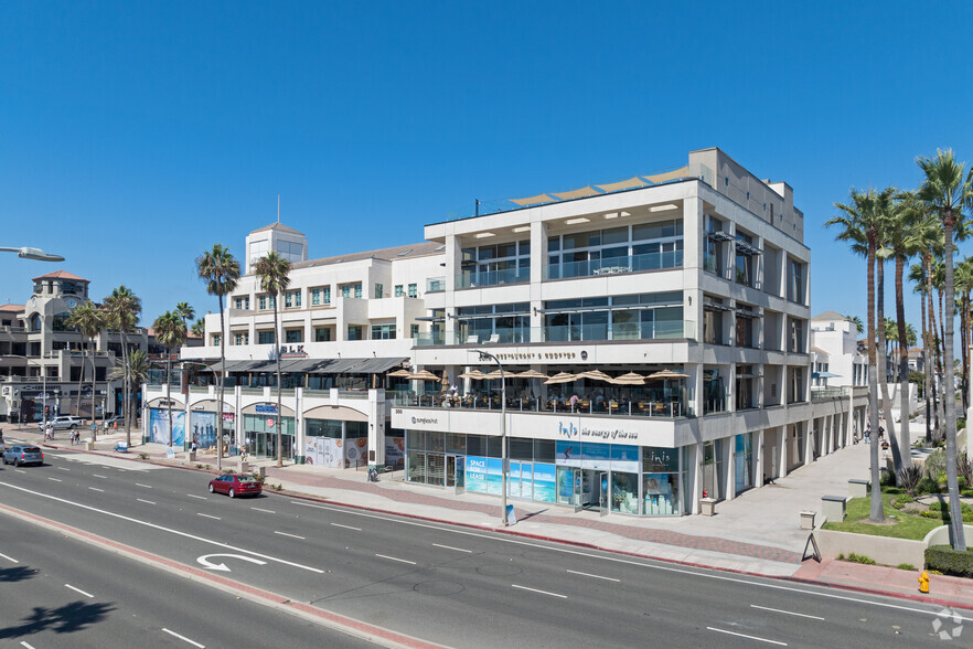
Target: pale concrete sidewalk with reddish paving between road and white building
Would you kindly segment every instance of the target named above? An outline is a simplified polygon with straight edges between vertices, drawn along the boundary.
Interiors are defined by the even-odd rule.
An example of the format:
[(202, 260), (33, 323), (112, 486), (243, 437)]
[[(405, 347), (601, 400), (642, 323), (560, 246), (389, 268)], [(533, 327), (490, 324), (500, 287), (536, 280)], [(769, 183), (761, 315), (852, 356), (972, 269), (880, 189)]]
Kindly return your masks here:
[[(8, 435), (4, 430), (4, 436)], [(36, 430), (13, 429), (10, 436), (49, 448), (72, 449), (66, 433), (44, 444)], [(200, 454), (195, 462), (189, 454), (168, 447), (139, 444), (141, 433), (131, 434), (133, 447), (115, 453), (124, 433), (98, 438), (95, 453), (138, 458), (146, 454), (152, 462), (215, 472), (215, 454)], [(82, 450), (82, 446), (74, 450)], [(479, 493), (457, 496), (441, 488), (405, 485), (402, 471), (386, 474), (379, 482), (368, 482), (365, 470), (341, 470), (306, 465), (276, 468), (274, 460), (250, 462), (264, 467), (269, 486), (280, 486), (293, 494), (307, 496), (355, 508), (391, 512), (432, 521), (458, 523), (478, 529), (568, 542), (585, 547), (630, 553), (744, 573), (789, 577), (836, 587), (855, 588), (930, 603), (973, 608), (973, 581), (931, 575), (931, 595), (920, 596), (918, 573), (894, 567), (868, 566), (834, 560), (802, 562), (809, 531), (800, 529), (800, 512), (820, 512), (822, 496), (847, 496), (848, 480), (868, 478), (868, 446), (859, 444), (819, 458), (785, 478), (738, 498), (720, 502), (715, 517), (643, 519), (622, 514), (600, 517), (595, 511), (574, 513), (547, 503), (511, 500), (517, 523), (504, 528), (500, 522), (500, 499)], [(231, 470), (237, 458), (224, 458)], [(205, 469), (204, 469), (205, 470)]]

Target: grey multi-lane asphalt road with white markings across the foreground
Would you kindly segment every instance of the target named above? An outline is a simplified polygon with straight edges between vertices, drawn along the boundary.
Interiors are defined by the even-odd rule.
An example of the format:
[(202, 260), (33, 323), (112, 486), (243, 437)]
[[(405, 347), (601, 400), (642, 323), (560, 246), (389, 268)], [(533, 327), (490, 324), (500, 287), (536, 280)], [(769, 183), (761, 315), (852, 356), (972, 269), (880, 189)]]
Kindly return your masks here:
[[(0, 639), (13, 646), (124, 647), (150, 637), (177, 647), (240, 639), (275, 647), (913, 647), (941, 641), (935, 620), (937, 628), (955, 625), (938, 617), (939, 607), (908, 600), (284, 494), (231, 500), (207, 493), (209, 476), (195, 471), (66, 450), (45, 460), (0, 470)], [(19, 520), (11, 508), (62, 528)], [(116, 544), (139, 556), (118, 554)], [(181, 578), (181, 571), (212, 573), (218, 583)], [(233, 583), (246, 587), (235, 594)], [(287, 604), (266, 606), (250, 591)], [(328, 614), (288, 613), (298, 604)], [(960, 624), (973, 627), (973, 615), (965, 617)], [(355, 635), (335, 630), (354, 627), (351, 620), (363, 623)]]

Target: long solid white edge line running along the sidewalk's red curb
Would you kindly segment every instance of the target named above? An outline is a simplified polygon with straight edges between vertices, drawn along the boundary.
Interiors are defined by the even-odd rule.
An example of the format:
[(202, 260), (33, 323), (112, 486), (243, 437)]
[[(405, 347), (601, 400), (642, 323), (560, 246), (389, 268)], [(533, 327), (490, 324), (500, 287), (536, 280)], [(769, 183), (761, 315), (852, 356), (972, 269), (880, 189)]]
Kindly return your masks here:
[[(6, 485), (9, 487), (12, 487), (12, 485), (7, 485), (6, 482), (0, 482), (0, 485)], [(15, 489), (20, 489), (20, 488), (15, 487)], [(365, 511), (352, 511), (352, 510), (349, 510), (345, 508), (324, 507), (324, 506), (320, 506), (320, 504), (311, 504), (308, 502), (299, 502), (297, 500), (291, 500), (290, 502), (291, 502), (291, 504), (300, 504), (301, 507), (312, 507), (314, 509), (324, 509), (328, 511), (333, 511), (336, 513), (343, 513), (343, 514), (348, 514), (348, 515), (355, 515), (355, 517), (361, 517), (361, 518), (366, 518), (366, 519), (377, 519), (379, 521), (399, 523), (402, 525), (413, 525), (415, 528), (425, 528), (428, 530), (438, 530), (440, 532), (450, 532), (452, 534), (459, 534), (462, 536), (477, 536), (480, 539), (489, 539), (491, 541), (500, 541), (503, 543), (511, 543), (513, 545), (524, 545), (527, 547), (537, 547), (541, 550), (549, 550), (552, 552), (560, 552), (562, 554), (570, 554), (574, 556), (584, 556), (586, 558), (597, 558), (597, 560), (608, 561), (608, 562), (612, 562), (612, 563), (619, 563), (619, 564), (623, 564), (623, 565), (633, 565), (633, 566), (639, 566), (639, 567), (643, 567), (643, 568), (664, 571), (664, 572), (674, 573), (674, 574), (691, 575), (694, 577), (703, 577), (706, 579), (717, 579), (720, 582), (730, 582), (734, 584), (744, 584), (747, 586), (771, 588), (774, 591), (785, 591), (789, 593), (798, 593), (800, 595), (814, 595), (815, 597), (825, 597), (827, 599), (837, 599), (840, 602), (849, 602), (853, 604), (868, 604), (870, 606), (878, 606), (880, 608), (889, 608), (892, 610), (904, 610), (907, 613), (918, 613), (920, 615), (930, 615), (933, 617), (938, 616), (939, 611), (942, 610), (941, 608), (934, 608), (934, 609), (930, 608), (927, 610), (927, 609), (922, 609), (922, 608), (915, 608), (911, 606), (901, 606), (899, 604), (890, 604), (887, 602), (875, 602), (872, 599), (863, 599), (860, 597), (848, 597), (846, 595), (837, 595), (835, 593), (830, 593), (830, 592), (824, 592), (824, 591), (822, 591), (822, 592), (809, 591), (806, 588), (783, 586), (781, 584), (776, 584), (776, 583), (771, 583), (771, 582), (758, 582), (756, 579), (747, 579), (744, 577), (731, 577), (731, 576), (727, 576), (727, 575), (723, 575), (723, 574), (717, 574), (714, 571), (696, 572), (696, 571), (692, 571), (688, 568), (675, 567), (675, 566), (671, 566), (671, 565), (663, 565), (663, 564), (656, 565), (656, 564), (652, 564), (652, 563), (644, 563), (648, 561), (653, 561), (652, 557), (648, 557), (648, 556), (643, 561), (635, 561), (632, 558), (622, 558), (619, 556), (592, 554), (590, 552), (582, 552), (580, 550), (571, 550), (569, 547), (558, 547), (556, 545), (543, 545), (541, 543), (535, 543), (533, 541), (522, 541), (520, 539), (510, 539), (506, 536), (495, 536), (495, 535), (491, 535), (491, 534), (484, 534), (482, 532), (471, 532), (469, 530), (462, 530), (462, 529), (443, 528), (440, 525), (434, 525), (431, 523), (421, 523), (418, 521), (410, 521), (410, 520), (399, 520), (395, 517), (379, 515), (379, 514), (374, 514), (374, 513), (370, 513), (370, 512), (365, 512)], [(482, 524), (489, 525), (491, 523), (482, 523)], [(654, 560), (654, 561), (661, 561), (661, 560)], [(973, 621), (973, 616), (971, 616), (971, 617), (959, 616), (959, 617), (960, 617), (960, 621)]]

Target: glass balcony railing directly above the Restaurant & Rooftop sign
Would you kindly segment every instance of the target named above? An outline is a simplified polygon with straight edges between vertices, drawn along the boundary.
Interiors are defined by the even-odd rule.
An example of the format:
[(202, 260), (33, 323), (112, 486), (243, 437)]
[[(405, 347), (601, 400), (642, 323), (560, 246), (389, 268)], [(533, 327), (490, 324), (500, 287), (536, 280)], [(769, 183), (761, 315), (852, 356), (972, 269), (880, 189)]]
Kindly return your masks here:
[(532, 342), (600, 342), (696, 339), (696, 323), (687, 320), (635, 322), (623, 324), (581, 324), (501, 329), (494, 332), (460, 333), (442, 331), (420, 333), (416, 347), (459, 344), (527, 344)]

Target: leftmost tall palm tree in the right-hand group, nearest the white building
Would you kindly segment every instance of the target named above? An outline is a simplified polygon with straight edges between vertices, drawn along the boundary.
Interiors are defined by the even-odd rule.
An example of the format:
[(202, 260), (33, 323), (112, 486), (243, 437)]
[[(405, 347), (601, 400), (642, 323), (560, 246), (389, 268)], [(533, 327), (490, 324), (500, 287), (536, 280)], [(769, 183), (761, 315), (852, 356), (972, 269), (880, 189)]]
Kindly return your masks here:
[[(878, 433), (878, 385), (875, 372), (875, 256), (878, 251), (878, 234), (880, 222), (875, 211), (875, 192), (862, 192), (853, 189), (847, 205), (835, 203), (834, 206), (841, 212), (831, 219), (826, 226), (841, 227), (837, 241), (848, 242), (852, 252), (864, 255), (867, 267), (867, 292), (868, 292), (868, 411), (873, 435), (877, 440)], [(876, 523), (885, 520), (885, 509), (881, 501), (880, 471), (878, 467), (878, 444), (870, 445), (872, 460), (872, 512), (869, 519)]]

